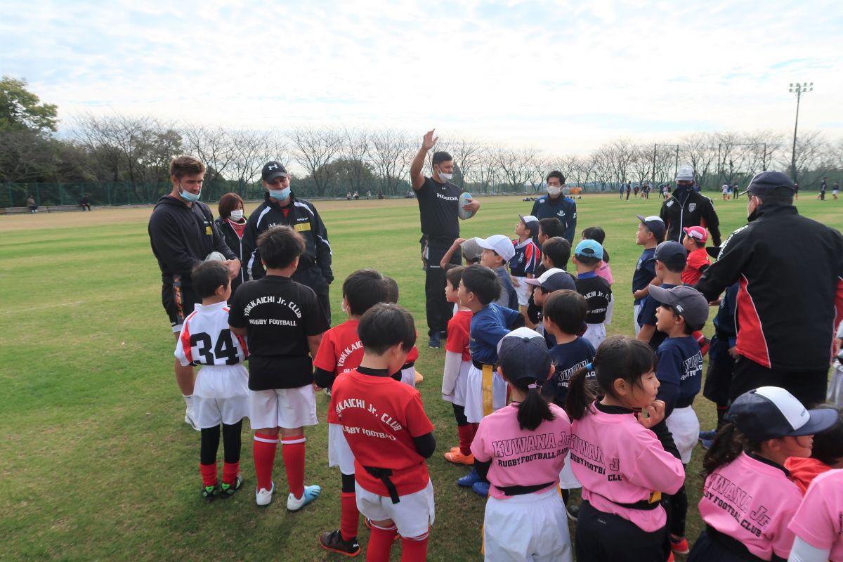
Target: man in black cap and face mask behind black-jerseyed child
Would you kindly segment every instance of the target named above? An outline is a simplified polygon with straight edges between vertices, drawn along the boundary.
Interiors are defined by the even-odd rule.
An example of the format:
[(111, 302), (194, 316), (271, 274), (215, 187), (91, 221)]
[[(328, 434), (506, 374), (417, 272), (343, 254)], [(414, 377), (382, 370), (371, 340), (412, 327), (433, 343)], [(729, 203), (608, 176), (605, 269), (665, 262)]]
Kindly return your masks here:
[(334, 281), (334, 272), (330, 269), (330, 244), (325, 223), (313, 203), (297, 199), (290, 190), (290, 177), (281, 163), (267, 162), (260, 178), (266, 189), (264, 202), (251, 213), (243, 233), (243, 255), (248, 256), (246, 272), (249, 279), (254, 281), (266, 275), (257, 248), (260, 233), (278, 224), (292, 227), (304, 237), (304, 254), (298, 259), (293, 281), (314, 290), (330, 321), (328, 286)]

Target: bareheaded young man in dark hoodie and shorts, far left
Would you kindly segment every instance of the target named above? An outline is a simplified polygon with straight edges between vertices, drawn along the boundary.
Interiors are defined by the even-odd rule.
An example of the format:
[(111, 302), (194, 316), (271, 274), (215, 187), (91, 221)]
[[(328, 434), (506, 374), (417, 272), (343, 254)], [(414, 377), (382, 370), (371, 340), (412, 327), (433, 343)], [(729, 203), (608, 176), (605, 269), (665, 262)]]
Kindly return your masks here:
[[(193, 312), (201, 298), (193, 291), (191, 270), (208, 254), (219, 252), (226, 258), (228, 272), (234, 278), (240, 260), (225, 244), (213, 222), (211, 209), (199, 201), (205, 165), (198, 158), (179, 156), (169, 164), (173, 190), (158, 200), (149, 217), (149, 242), (161, 268), (161, 301), (169, 316), (176, 338), (181, 324)], [(193, 417), (194, 369), (174, 361), (175, 380), (185, 399), (185, 423), (199, 430)]]

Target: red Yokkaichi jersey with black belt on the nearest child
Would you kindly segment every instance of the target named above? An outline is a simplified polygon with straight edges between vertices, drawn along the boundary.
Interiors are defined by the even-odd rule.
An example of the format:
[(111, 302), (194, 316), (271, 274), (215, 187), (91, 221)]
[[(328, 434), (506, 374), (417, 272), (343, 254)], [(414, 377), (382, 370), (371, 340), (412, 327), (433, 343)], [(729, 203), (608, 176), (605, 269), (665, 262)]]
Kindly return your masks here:
[(389, 479), (398, 495), (427, 486), (427, 463), (416, 451), (413, 437), (427, 435), (433, 424), (416, 388), (389, 376), (346, 372), (334, 382), (329, 410), (342, 424), (354, 453), (354, 478), (363, 490), (389, 497), (384, 483), (364, 467), (392, 470)]

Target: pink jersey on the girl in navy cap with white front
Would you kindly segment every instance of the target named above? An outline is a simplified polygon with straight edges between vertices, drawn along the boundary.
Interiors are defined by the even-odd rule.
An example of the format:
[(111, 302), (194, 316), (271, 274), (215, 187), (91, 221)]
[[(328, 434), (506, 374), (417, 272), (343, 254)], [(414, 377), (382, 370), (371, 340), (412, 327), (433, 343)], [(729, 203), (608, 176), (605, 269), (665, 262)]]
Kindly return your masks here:
[(703, 521), (769, 560), (773, 553), (790, 554), (793, 532), (787, 524), (800, 501), (783, 468), (742, 452), (708, 475), (699, 506)]

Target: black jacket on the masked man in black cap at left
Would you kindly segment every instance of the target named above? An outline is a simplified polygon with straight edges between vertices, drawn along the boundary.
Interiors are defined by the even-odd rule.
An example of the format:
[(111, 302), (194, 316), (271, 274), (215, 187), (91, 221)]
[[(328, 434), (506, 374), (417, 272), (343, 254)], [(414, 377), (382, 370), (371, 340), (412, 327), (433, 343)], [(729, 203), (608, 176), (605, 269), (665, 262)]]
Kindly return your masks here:
[(270, 201), (269, 194), (266, 194), (264, 202), (250, 214), (243, 233), (243, 254), (247, 256), (246, 276), (254, 281), (266, 275), (266, 270), (260, 264), (257, 238), (267, 228), (282, 224), (295, 228), (304, 237), (304, 254), (298, 259), (293, 281), (315, 291), (320, 284), (334, 281), (334, 272), (330, 269), (328, 231), (316, 207), (309, 201), (296, 199), (291, 193), (289, 209), (289, 214), (284, 217), (281, 206), (277, 201)]

